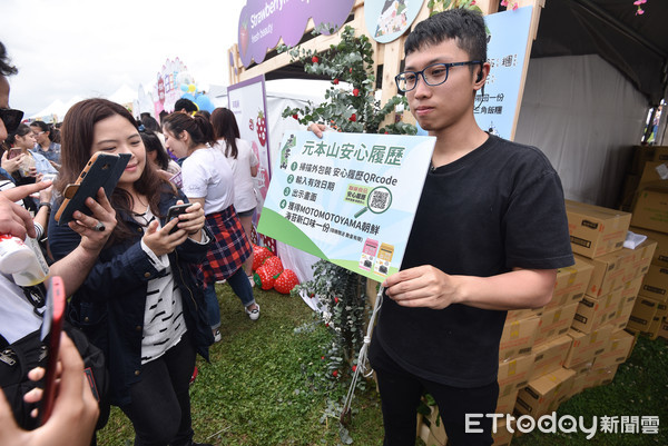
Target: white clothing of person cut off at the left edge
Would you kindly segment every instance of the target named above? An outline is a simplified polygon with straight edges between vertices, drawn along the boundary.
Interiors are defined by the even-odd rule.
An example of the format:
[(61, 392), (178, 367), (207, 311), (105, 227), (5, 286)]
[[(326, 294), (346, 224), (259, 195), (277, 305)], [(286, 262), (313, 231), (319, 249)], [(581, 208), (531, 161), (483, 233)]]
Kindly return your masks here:
[(0, 333), (9, 344), (41, 327), (42, 318), (23, 297), (23, 290), (11, 276), (0, 272)]

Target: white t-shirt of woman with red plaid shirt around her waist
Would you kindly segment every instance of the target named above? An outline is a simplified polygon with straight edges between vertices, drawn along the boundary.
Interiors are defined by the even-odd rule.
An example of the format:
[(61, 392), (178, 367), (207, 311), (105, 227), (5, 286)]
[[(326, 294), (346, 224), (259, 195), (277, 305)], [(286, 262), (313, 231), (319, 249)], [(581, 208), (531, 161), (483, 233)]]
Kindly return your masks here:
[(220, 150), (195, 150), (181, 165), (184, 194), (204, 198), (204, 214), (219, 212), (234, 204), (234, 175)]

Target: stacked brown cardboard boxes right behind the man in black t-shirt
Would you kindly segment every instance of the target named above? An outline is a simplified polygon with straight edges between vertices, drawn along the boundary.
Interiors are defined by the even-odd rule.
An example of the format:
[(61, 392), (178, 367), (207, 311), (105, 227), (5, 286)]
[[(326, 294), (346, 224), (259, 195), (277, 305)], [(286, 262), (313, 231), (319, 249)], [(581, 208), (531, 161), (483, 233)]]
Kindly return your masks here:
[[(499, 345), (497, 414), (534, 419), (586, 388), (612, 380), (636, 337), (625, 330), (657, 242), (648, 238), (623, 248), (631, 215), (567, 200), (576, 262), (561, 268), (552, 300), (539, 309), (508, 311)], [(668, 228), (666, 238), (668, 240)], [(664, 254), (668, 277), (668, 242)], [(667, 287), (668, 288), (668, 287)], [(499, 419), (494, 446), (517, 433)], [(443, 446), (445, 432), (436, 410), (419, 434), (428, 446)]]

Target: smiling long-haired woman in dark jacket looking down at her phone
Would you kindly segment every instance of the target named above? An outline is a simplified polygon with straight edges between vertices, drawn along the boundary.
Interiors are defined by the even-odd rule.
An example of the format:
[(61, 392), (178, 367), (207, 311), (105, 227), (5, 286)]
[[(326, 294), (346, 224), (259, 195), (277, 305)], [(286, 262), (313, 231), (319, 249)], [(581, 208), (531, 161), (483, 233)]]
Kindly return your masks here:
[[(165, 220), (169, 207), (186, 197), (147, 162), (135, 119), (122, 106), (84, 100), (68, 111), (62, 128), (60, 194), (92, 153), (131, 155), (110, 197), (116, 228), (73, 294), (68, 318), (105, 351), (110, 402), (132, 423), (135, 445), (195, 445), (188, 386), (196, 353), (208, 358), (213, 343), (204, 296), (190, 272), (208, 249), (202, 205)], [(56, 259), (78, 238), (51, 221)]]

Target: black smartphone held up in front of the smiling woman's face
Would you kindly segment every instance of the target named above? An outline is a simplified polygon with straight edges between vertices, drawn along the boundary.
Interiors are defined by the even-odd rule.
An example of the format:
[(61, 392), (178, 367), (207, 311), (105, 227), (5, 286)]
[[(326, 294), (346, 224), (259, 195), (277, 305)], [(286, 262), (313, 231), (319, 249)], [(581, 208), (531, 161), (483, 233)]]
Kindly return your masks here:
[(65, 200), (55, 216), (58, 225), (67, 225), (71, 221), (76, 210), (91, 215), (92, 212), (86, 206), (86, 199), (88, 197), (95, 199), (100, 187), (105, 188), (105, 194), (110, 197), (130, 158), (130, 153), (115, 155), (101, 151), (92, 153), (79, 174), (77, 182), (65, 188)]

